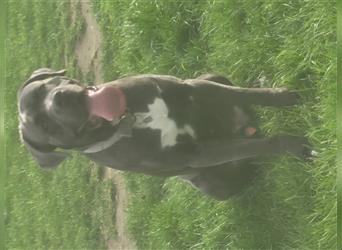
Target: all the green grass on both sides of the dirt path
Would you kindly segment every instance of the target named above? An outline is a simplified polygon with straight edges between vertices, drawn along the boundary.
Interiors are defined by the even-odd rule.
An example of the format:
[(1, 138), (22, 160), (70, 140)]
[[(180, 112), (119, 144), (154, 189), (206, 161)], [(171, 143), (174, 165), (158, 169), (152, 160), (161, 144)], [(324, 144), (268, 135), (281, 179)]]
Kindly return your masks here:
[[(226, 202), (175, 178), (127, 173), (129, 229), (140, 249), (336, 248), (335, 1), (115, 0), (94, 9), (106, 80), (216, 72), (252, 86), (265, 77), (265, 86), (300, 91), (303, 105), (259, 110), (263, 131), (306, 135), (319, 153), (313, 162), (263, 160), (253, 186)], [(83, 24), (70, 23), (65, 1), (9, 1), (7, 11), (7, 248), (104, 248), (115, 191), (103, 169), (74, 154), (42, 171), (17, 132), (16, 91), (34, 69), (82, 78), (73, 50)]]

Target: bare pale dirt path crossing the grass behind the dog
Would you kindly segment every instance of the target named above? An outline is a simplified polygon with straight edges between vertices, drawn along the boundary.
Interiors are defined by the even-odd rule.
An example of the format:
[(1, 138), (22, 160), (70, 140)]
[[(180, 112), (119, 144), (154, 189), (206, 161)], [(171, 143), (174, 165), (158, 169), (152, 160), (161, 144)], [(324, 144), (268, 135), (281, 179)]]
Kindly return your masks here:
[[(72, 4), (75, 2), (72, 1)], [(76, 46), (76, 57), (78, 66), (83, 75), (93, 72), (95, 75), (95, 84), (103, 83), (101, 66), (101, 32), (92, 15), (90, 2), (81, 0), (82, 16), (86, 22), (86, 30), (80, 42)], [(108, 240), (108, 249), (136, 249), (134, 243), (130, 240), (126, 228), (126, 207), (128, 202), (128, 193), (125, 182), (120, 171), (107, 168), (105, 179), (112, 179), (116, 186), (116, 218), (115, 226), (117, 230), (117, 239)]]

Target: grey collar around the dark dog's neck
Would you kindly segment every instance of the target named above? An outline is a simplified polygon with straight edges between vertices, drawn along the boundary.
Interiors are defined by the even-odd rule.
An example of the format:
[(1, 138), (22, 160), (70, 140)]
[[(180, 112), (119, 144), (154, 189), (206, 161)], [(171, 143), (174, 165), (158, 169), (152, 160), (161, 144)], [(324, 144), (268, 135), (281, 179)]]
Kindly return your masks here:
[(113, 126), (117, 126), (117, 130), (113, 133), (111, 137), (106, 140), (96, 142), (86, 149), (81, 150), (84, 154), (94, 154), (106, 150), (107, 148), (113, 146), (123, 137), (132, 136), (132, 126), (135, 123), (135, 116), (130, 112), (125, 112), (121, 116), (119, 121), (114, 121)]

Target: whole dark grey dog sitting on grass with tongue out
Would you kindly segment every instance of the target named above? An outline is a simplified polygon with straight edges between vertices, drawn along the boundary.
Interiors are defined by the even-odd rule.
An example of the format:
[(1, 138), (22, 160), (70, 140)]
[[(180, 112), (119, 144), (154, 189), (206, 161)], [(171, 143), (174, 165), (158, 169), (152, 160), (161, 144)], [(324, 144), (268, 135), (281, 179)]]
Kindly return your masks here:
[(38, 69), (18, 91), (21, 140), (42, 168), (57, 167), (77, 150), (111, 168), (178, 176), (225, 200), (254, 179), (255, 159), (306, 154), (304, 137), (262, 136), (252, 109), (295, 105), (294, 91), (240, 88), (213, 74), (138, 75), (84, 86), (65, 73)]

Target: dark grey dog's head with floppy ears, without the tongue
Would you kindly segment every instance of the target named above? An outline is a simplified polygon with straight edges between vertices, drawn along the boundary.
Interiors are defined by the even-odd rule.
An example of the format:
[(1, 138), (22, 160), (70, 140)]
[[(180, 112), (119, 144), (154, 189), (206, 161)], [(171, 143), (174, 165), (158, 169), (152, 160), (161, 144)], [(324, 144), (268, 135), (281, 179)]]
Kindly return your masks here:
[(65, 70), (36, 70), (18, 91), (22, 141), (46, 168), (67, 157), (57, 148), (79, 148), (98, 140), (97, 129), (104, 123), (90, 116), (88, 88), (64, 75)]

